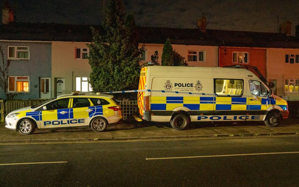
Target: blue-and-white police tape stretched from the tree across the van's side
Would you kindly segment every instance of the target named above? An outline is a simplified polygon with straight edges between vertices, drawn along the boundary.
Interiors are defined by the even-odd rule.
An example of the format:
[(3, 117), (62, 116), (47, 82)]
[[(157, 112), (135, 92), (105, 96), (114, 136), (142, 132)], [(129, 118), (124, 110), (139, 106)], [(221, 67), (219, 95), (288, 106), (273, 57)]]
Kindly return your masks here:
[[(115, 92), (101, 92), (101, 93), (130, 93), (130, 92), (160, 92), (160, 93), (179, 93), (179, 94), (190, 94), (190, 95), (212, 95), (212, 96), (219, 96), (219, 94), (217, 94), (217, 93), (178, 92), (178, 91), (150, 90), (150, 89), (115, 91)], [(226, 94), (221, 94), (221, 96), (244, 96), (244, 95), (226, 95)]]

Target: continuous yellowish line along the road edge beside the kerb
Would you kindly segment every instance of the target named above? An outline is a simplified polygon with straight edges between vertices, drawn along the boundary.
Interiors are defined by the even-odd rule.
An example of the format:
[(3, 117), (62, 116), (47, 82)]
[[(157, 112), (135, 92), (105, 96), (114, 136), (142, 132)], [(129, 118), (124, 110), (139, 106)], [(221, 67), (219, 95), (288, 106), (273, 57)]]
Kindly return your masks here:
[(192, 138), (167, 138), (167, 139), (136, 139), (136, 140), (102, 140), (102, 141), (63, 141), (63, 142), (35, 142), (35, 143), (0, 143), (5, 145), (32, 145), (32, 144), (76, 144), (76, 143), (114, 143), (114, 142), (136, 142), (136, 141), (177, 141), (177, 140), (219, 140), (219, 139), (244, 139), (244, 138), (277, 138), (277, 137), (299, 137), (298, 135), (275, 135), (275, 136), (248, 136), (248, 137), (192, 137)]

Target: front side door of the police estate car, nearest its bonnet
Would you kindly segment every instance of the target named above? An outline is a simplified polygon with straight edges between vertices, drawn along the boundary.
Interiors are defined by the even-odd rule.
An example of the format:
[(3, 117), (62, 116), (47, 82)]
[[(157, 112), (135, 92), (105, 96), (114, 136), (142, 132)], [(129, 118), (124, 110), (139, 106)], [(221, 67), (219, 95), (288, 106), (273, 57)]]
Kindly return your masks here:
[(41, 128), (69, 127), (70, 98), (62, 98), (46, 104), (41, 111)]

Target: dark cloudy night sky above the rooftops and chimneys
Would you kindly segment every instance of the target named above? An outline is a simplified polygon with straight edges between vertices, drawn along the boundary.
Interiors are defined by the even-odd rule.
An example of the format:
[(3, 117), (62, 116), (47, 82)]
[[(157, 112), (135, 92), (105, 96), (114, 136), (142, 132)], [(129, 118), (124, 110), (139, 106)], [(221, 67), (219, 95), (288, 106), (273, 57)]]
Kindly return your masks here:
[[(2, 7), (3, 7), (3, 1)], [(17, 22), (101, 24), (109, 0), (8, 0)], [(205, 12), (208, 29), (277, 32), (279, 23), (299, 21), (298, 0), (124, 0), (126, 13), (137, 25), (195, 28)]]

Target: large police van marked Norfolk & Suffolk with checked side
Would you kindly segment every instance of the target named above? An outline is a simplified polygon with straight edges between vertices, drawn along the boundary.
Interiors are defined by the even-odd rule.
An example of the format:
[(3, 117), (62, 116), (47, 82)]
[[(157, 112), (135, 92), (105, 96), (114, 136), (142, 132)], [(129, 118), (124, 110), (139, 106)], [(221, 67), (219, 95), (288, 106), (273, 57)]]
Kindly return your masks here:
[(222, 67), (145, 66), (139, 80), (138, 112), (143, 120), (170, 122), (264, 121), (276, 127), (288, 117), (287, 101), (252, 71)]

